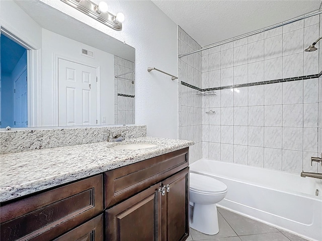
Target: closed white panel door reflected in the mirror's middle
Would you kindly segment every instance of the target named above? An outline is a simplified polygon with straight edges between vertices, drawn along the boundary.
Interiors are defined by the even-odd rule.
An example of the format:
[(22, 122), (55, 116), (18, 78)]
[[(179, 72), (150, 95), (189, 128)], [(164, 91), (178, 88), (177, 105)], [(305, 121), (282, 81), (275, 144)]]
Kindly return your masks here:
[(97, 69), (58, 60), (59, 126), (97, 124)]

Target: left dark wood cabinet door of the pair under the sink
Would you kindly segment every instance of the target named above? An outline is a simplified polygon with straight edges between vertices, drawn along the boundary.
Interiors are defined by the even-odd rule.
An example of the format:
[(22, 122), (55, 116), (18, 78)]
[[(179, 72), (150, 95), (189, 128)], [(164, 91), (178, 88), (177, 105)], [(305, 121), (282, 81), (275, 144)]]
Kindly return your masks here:
[(106, 210), (106, 240), (160, 240), (159, 184)]

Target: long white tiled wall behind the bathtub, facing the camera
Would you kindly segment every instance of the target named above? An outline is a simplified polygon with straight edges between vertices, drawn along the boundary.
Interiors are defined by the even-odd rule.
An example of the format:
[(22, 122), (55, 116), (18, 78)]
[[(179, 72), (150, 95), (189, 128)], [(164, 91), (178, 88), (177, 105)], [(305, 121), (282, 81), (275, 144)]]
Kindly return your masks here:
[[(318, 51), (303, 51), (318, 36), (315, 16), (203, 51), (201, 88), (219, 88), (202, 97), (202, 157), (291, 173), (318, 170), (310, 157), (318, 155), (321, 62)], [(238, 84), (244, 87), (228, 88)]]

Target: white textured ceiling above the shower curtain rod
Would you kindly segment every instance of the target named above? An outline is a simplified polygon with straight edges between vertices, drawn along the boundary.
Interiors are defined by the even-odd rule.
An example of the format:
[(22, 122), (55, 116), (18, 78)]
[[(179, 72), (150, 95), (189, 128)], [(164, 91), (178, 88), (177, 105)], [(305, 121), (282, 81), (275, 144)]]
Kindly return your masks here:
[(202, 47), (318, 10), (318, 1), (152, 0)]

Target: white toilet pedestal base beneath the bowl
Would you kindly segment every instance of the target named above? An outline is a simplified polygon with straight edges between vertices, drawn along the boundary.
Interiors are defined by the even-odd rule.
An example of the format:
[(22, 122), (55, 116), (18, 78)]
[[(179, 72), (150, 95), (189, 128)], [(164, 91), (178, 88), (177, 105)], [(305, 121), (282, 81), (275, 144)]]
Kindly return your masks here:
[(195, 203), (190, 227), (202, 233), (214, 235), (219, 232), (216, 204), (202, 205)]

